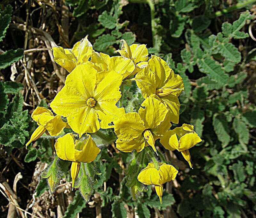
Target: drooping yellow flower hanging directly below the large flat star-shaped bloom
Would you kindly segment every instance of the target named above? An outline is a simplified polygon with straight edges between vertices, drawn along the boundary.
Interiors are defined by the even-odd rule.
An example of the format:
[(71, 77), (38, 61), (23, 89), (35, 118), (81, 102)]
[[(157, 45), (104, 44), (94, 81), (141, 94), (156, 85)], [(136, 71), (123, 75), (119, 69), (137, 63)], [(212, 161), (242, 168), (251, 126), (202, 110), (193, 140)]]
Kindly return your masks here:
[(58, 138), (54, 146), (56, 154), (60, 159), (72, 161), (72, 187), (74, 187), (75, 179), (79, 173), (80, 163), (90, 163), (100, 153), (100, 149), (96, 146), (89, 134), (86, 134), (79, 140), (75, 140), (74, 135), (68, 133)]

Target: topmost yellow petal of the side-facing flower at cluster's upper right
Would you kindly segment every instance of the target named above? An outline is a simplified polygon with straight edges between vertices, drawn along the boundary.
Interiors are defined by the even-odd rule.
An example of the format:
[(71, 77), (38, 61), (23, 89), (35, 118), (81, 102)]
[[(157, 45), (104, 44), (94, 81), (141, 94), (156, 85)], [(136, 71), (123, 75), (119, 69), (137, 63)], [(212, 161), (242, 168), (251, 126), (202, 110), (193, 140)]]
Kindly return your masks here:
[(156, 89), (162, 88), (171, 73), (171, 68), (162, 58), (155, 55), (149, 59), (148, 68), (156, 75)]

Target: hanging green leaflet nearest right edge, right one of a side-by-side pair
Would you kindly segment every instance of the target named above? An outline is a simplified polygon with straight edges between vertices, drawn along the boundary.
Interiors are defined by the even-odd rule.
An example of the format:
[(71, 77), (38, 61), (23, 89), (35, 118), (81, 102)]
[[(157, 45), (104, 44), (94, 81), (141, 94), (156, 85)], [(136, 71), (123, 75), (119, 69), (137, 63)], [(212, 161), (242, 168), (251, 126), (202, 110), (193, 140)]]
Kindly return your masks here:
[(233, 120), (233, 129), (238, 135), (240, 144), (244, 147), (244, 150), (247, 150), (247, 144), (249, 142), (250, 135), (246, 124), (239, 118), (235, 117)]

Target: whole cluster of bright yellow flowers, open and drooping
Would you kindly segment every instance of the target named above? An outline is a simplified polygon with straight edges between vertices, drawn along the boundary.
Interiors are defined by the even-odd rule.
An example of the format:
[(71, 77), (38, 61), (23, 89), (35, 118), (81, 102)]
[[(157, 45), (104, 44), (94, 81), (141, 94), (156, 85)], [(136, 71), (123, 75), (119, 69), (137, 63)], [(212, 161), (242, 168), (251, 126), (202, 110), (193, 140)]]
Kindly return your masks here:
[[(52, 48), (54, 60), (69, 74), (50, 104), (56, 116), (44, 107), (37, 107), (32, 113), (39, 127), (26, 146), (44, 133), (58, 136), (65, 127), (71, 128), (72, 133), (62, 134), (57, 139), (55, 149), (60, 159), (72, 161), (72, 187), (81, 163), (91, 163), (100, 153), (91, 137), (100, 129), (114, 128), (116, 148), (123, 152), (134, 149), (141, 152), (150, 146), (158, 155), (155, 142), (160, 139), (165, 149), (180, 151), (190, 167), (188, 149), (201, 142), (191, 125), (169, 130), (171, 122), (179, 123), (178, 97), (184, 90), (182, 78), (160, 57), (152, 55), (148, 60), (146, 45), (128, 46), (125, 40), (122, 42), (121, 49), (116, 51), (121, 56), (113, 57), (95, 52), (87, 36), (72, 49)], [(125, 113), (122, 106), (124, 84), (129, 86), (131, 81), (135, 81), (144, 101), (137, 112)], [(63, 120), (67, 122), (61, 118), (66, 118)], [(141, 169), (136, 180), (155, 185), (162, 203), (163, 184), (174, 180), (178, 171), (170, 164), (158, 163), (154, 153), (151, 157), (154, 163)]]

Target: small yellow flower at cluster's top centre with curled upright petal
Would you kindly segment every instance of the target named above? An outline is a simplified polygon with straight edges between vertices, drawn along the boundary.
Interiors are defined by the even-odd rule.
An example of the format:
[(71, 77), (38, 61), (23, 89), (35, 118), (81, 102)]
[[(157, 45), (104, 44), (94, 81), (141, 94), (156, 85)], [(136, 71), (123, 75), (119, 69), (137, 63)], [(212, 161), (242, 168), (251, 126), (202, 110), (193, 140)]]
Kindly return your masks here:
[[(128, 46), (125, 40), (122, 39), (121, 41), (123, 42), (121, 50), (116, 50), (115, 53), (118, 52), (122, 57), (132, 60), (135, 64), (135, 69), (129, 76), (135, 75), (147, 65), (148, 49), (144, 44), (132, 44)], [(127, 78), (129, 76), (127, 76)]]

